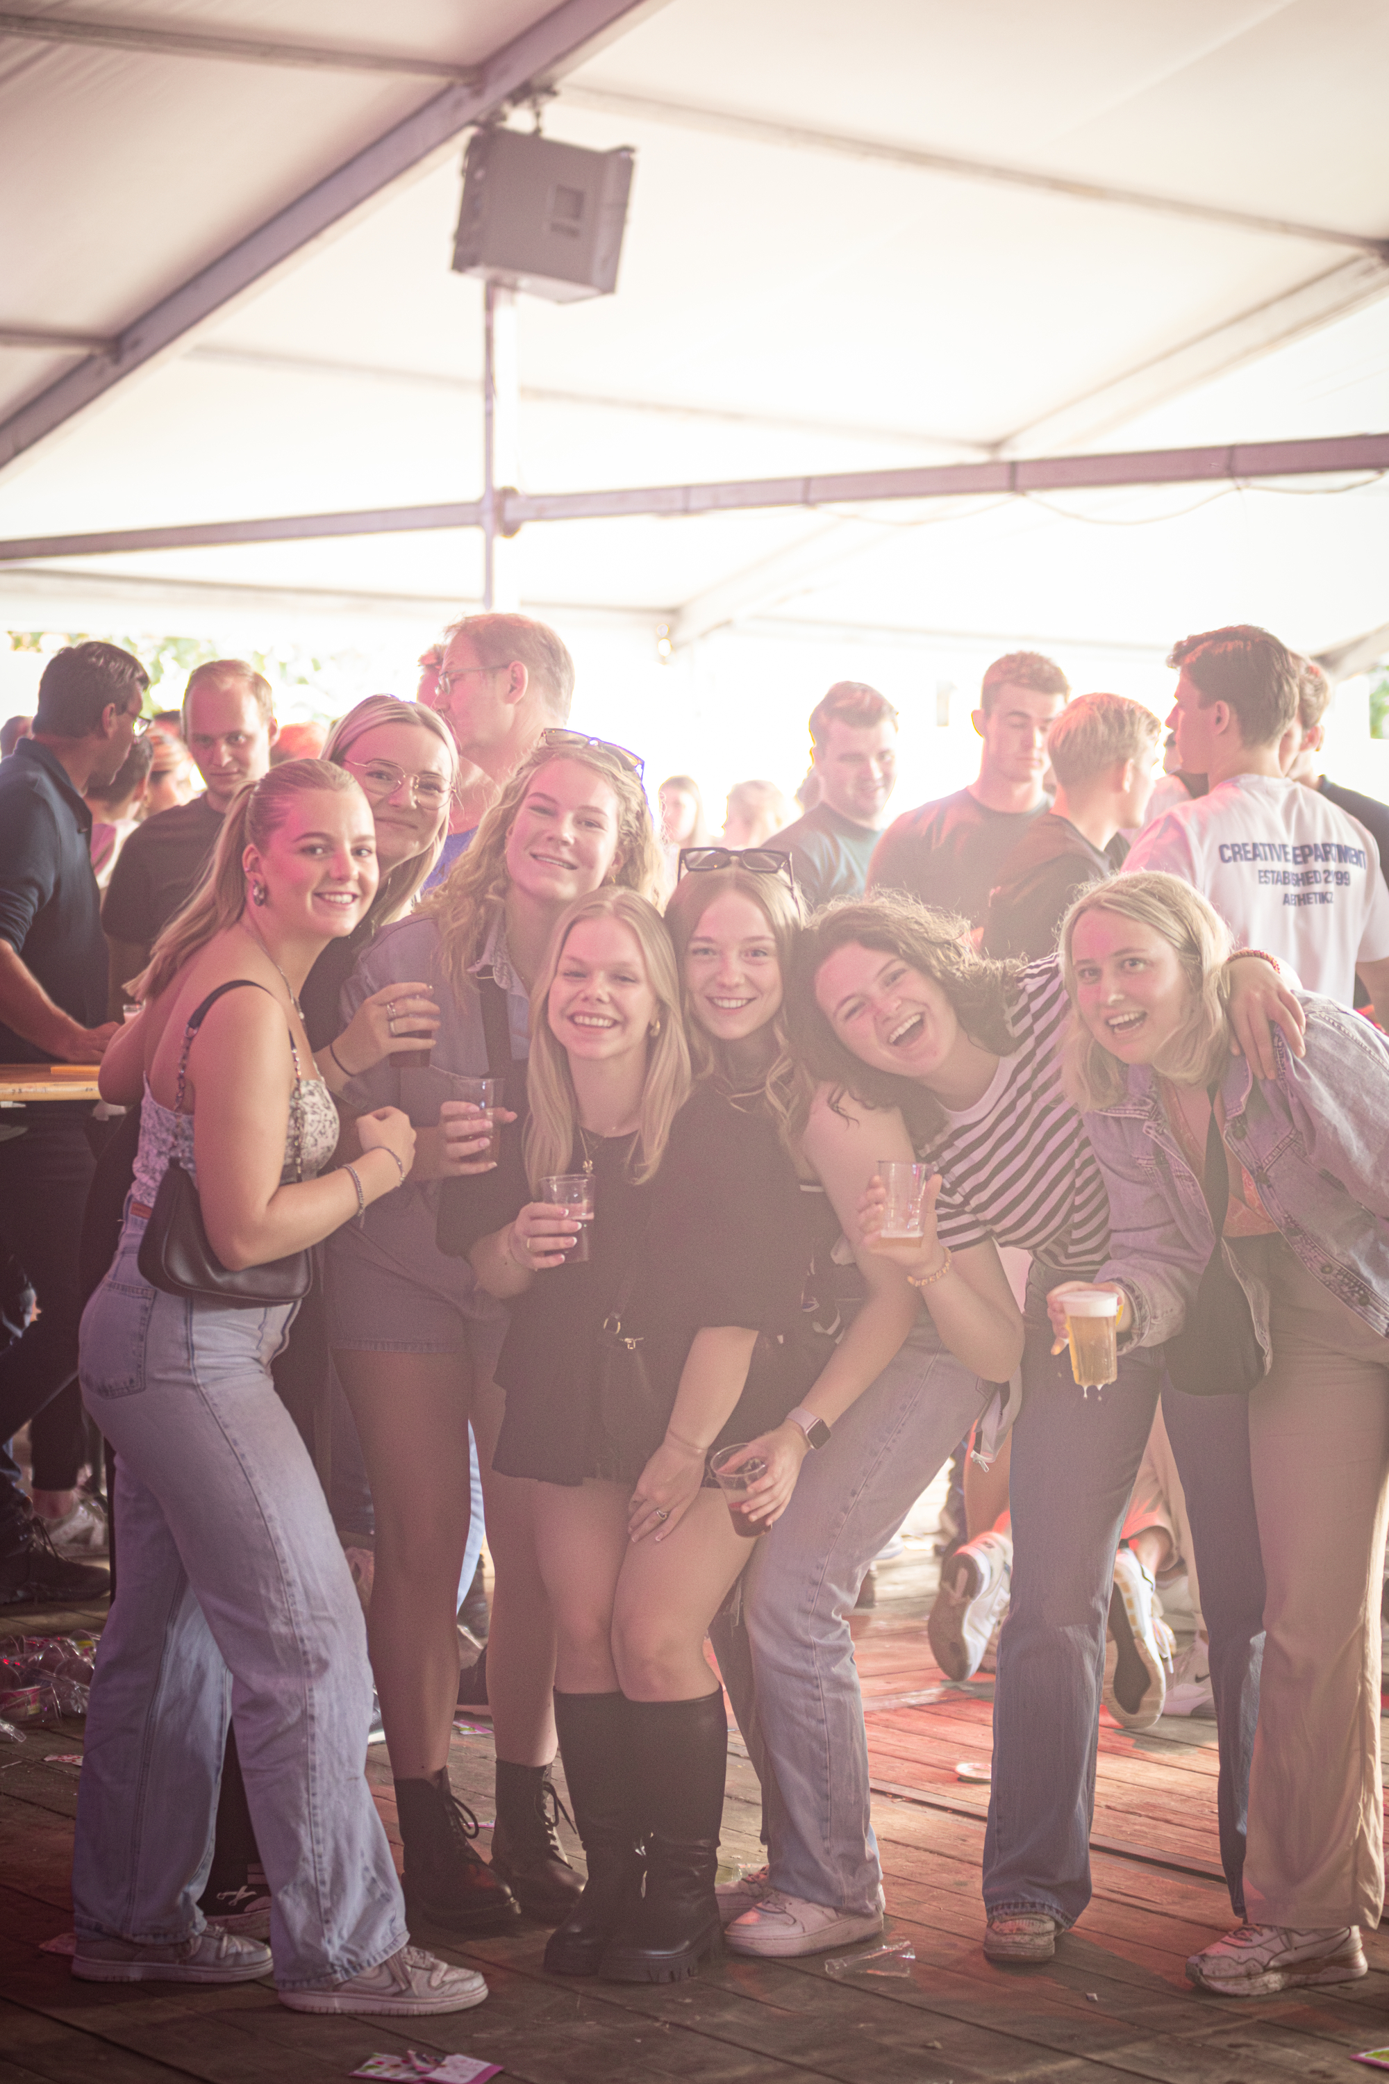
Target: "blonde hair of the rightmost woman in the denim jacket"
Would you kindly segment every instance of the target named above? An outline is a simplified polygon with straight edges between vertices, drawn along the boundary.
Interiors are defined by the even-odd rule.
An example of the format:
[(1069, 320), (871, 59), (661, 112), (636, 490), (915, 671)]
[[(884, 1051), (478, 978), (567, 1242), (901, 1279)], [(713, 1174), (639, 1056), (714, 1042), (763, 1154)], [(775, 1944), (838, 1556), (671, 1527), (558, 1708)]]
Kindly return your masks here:
[(1112, 875), (1106, 884), (1095, 884), (1075, 900), (1062, 919), (1062, 977), (1070, 992), (1070, 1032), (1064, 1050), (1068, 1098), (1085, 1111), (1087, 1107), (1112, 1107), (1129, 1090), (1127, 1065), (1091, 1036), (1077, 1011), (1070, 944), (1077, 923), (1093, 911), (1147, 925), (1177, 950), (1187, 982), (1187, 1009), (1177, 1034), (1162, 1044), (1152, 1067), (1177, 1086), (1208, 1086), (1229, 1055), (1224, 1019), (1229, 927), (1191, 884), (1158, 869), (1135, 869), (1133, 875)]

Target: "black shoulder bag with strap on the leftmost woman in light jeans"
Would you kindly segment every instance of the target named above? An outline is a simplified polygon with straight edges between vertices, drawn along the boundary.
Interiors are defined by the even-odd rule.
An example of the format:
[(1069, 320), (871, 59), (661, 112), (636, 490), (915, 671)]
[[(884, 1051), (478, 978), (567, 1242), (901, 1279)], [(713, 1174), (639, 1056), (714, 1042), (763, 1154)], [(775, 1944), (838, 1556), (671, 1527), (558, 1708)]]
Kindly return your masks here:
[[(206, 1015), (225, 992), (250, 986), (264, 992), (264, 984), (254, 977), (233, 977), (219, 984), (214, 992), (190, 1017), (183, 1029), (183, 1050), (179, 1055), (179, 1090), (173, 1111), (183, 1113), (183, 1090), (187, 1084), (187, 1052)], [(271, 994), (275, 996), (275, 994)], [(294, 1057), (294, 1098), (289, 1121), (294, 1125), (294, 1177), (304, 1177), (304, 1100), (300, 1086), (300, 1052), (289, 1036)], [(225, 1267), (202, 1223), (202, 1202), (192, 1173), (185, 1173), (177, 1159), (169, 1161), (169, 1171), (158, 1184), (154, 1209), (140, 1240), (140, 1273), (167, 1296), (194, 1296), (202, 1302), (221, 1302), (225, 1309), (267, 1309), (275, 1302), (302, 1302), (312, 1284), (312, 1252), (289, 1252), (285, 1259), (269, 1259), (262, 1267)]]

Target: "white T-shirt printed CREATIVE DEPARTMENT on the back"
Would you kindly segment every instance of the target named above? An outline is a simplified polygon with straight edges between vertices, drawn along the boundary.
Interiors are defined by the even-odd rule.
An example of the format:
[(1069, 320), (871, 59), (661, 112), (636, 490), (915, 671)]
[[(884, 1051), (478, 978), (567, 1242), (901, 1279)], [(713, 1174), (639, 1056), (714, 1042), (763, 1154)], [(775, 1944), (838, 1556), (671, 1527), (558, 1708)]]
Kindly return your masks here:
[(1389, 886), (1364, 825), (1302, 782), (1231, 775), (1154, 819), (1125, 871), (1181, 875), (1237, 948), (1268, 948), (1304, 990), (1352, 1004), (1356, 963), (1389, 954)]

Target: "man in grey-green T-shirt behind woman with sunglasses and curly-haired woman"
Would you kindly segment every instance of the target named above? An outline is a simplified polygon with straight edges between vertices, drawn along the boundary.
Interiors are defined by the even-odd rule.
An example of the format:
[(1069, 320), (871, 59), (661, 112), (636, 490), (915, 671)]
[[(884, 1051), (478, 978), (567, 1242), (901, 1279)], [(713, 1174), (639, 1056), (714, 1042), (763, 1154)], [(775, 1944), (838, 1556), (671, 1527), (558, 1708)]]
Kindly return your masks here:
[(877, 688), (839, 679), (810, 713), (814, 809), (766, 844), (791, 857), (806, 911), (856, 898), (868, 882), (898, 782), (898, 711)]

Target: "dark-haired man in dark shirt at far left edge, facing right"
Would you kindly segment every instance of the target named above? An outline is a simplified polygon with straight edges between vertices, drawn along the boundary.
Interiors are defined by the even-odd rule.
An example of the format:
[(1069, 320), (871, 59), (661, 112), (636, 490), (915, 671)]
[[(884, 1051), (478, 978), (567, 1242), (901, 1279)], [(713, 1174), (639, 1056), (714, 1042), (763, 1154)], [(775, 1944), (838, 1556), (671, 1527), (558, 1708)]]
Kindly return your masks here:
[[(115, 644), (77, 644), (44, 667), (33, 736), (0, 767), (0, 1059), (96, 1063), (106, 1009), (92, 813), (142, 729), (150, 677)], [(77, 1236), (92, 1184), (85, 1102), (40, 1100), (6, 1115), (0, 1248), (29, 1273), (40, 1313), (0, 1353), (0, 1442), (77, 1375)], [(0, 1607), (85, 1598), (106, 1571), (60, 1559), (0, 1455)]]

